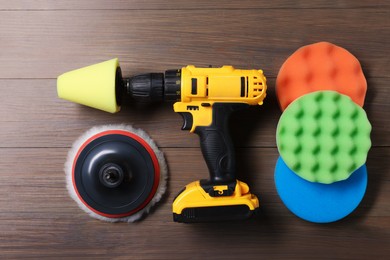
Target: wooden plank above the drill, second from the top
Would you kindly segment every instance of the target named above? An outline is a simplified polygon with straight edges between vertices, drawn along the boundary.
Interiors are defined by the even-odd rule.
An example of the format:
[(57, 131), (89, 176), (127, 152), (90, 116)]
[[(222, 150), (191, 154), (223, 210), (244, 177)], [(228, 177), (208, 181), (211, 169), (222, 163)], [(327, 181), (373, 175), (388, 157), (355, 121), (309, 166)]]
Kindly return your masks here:
[(297, 48), (317, 41), (347, 48), (366, 76), (389, 77), (389, 17), (387, 8), (2, 11), (0, 78), (56, 78), (112, 57), (125, 75), (190, 61), (275, 77)]

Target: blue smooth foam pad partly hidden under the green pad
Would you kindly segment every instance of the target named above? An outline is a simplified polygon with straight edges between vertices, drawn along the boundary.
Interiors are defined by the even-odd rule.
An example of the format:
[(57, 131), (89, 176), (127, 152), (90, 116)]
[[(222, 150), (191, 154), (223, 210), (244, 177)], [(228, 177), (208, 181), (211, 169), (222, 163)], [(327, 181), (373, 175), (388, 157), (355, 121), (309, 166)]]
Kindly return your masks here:
[(329, 223), (344, 218), (359, 205), (366, 192), (367, 168), (364, 164), (346, 180), (322, 184), (302, 179), (279, 157), (275, 185), (292, 213), (310, 222)]

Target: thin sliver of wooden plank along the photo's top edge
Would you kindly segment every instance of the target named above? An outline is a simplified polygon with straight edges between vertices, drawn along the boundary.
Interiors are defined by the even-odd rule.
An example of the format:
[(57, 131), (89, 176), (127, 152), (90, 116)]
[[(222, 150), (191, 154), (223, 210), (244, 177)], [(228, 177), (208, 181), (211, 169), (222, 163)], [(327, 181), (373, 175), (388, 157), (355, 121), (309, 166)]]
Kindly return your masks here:
[(312, 1), (229, 1), (229, 0), (197, 0), (197, 1), (164, 1), (164, 0), (113, 0), (104, 1), (97, 0), (91, 3), (89, 0), (16, 0), (16, 1), (0, 1), (0, 10), (188, 10), (188, 9), (269, 9), (269, 8), (380, 8), (388, 7), (390, 4), (387, 1), (381, 0), (342, 0), (342, 1), (327, 1), (327, 0), (312, 0)]

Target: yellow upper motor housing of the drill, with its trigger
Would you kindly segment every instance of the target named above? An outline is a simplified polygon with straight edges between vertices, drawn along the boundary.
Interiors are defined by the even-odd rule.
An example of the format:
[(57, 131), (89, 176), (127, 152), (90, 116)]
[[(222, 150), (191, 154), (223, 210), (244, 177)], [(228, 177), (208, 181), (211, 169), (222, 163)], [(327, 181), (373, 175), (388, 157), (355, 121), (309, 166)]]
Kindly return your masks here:
[[(196, 85), (196, 86), (194, 86)], [(175, 112), (189, 112), (193, 117), (191, 132), (197, 126), (209, 126), (215, 102), (262, 105), (266, 96), (266, 78), (262, 70), (240, 70), (232, 66), (221, 68), (181, 69), (181, 101)]]

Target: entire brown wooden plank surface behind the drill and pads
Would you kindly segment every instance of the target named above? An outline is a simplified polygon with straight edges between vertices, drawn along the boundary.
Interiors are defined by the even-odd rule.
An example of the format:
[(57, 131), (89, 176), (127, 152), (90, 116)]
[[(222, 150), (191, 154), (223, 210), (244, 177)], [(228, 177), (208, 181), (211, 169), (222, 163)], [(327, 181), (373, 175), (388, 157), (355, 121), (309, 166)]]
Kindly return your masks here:
[[(0, 258), (384, 259), (390, 254), (390, 2), (0, 0)], [(302, 45), (330, 41), (361, 61), (372, 123), (369, 184), (359, 208), (318, 225), (290, 213), (273, 182), (280, 111), (274, 83)], [(198, 137), (171, 105), (111, 115), (57, 98), (56, 77), (118, 57), (126, 76), (187, 64), (261, 68), (268, 97), (231, 120), (239, 178), (262, 215), (238, 223), (172, 222), (176, 193), (208, 175)], [(65, 188), (73, 141), (95, 125), (128, 123), (165, 153), (169, 186), (143, 221), (92, 219)]]

